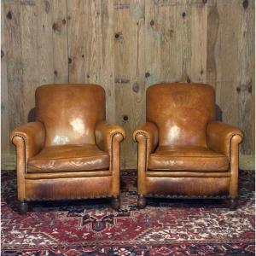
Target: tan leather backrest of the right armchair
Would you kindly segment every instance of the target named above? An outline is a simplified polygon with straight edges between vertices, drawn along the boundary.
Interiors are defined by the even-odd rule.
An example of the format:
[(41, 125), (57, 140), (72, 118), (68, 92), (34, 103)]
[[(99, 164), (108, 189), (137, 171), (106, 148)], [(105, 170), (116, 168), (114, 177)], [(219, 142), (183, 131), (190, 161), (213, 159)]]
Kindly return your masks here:
[(159, 144), (207, 147), (207, 123), (215, 119), (215, 91), (207, 84), (154, 84), (147, 90), (147, 120)]

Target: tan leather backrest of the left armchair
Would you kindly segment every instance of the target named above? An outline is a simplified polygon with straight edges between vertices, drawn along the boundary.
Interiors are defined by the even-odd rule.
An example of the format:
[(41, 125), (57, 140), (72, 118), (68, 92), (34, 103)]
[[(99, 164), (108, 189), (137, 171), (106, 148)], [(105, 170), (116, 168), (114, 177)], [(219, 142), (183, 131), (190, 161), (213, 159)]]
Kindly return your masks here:
[(96, 84), (45, 84), (36, 90), (36, 119), (45, 146), (95, 143), (96, 122), (105, 119), (105, 90)]

